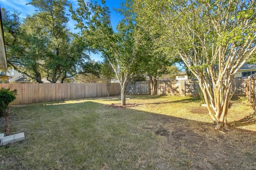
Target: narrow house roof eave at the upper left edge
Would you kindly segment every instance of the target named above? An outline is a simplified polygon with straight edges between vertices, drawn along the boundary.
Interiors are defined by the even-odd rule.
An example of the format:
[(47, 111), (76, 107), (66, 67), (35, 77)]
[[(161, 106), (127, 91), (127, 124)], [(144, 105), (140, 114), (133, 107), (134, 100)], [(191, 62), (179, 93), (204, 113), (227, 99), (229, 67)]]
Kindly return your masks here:
[(6, 45), (4, 42), (4, 28), (2, 23), (1, 10), (0, 10), (0, 69), (7, 70)]

